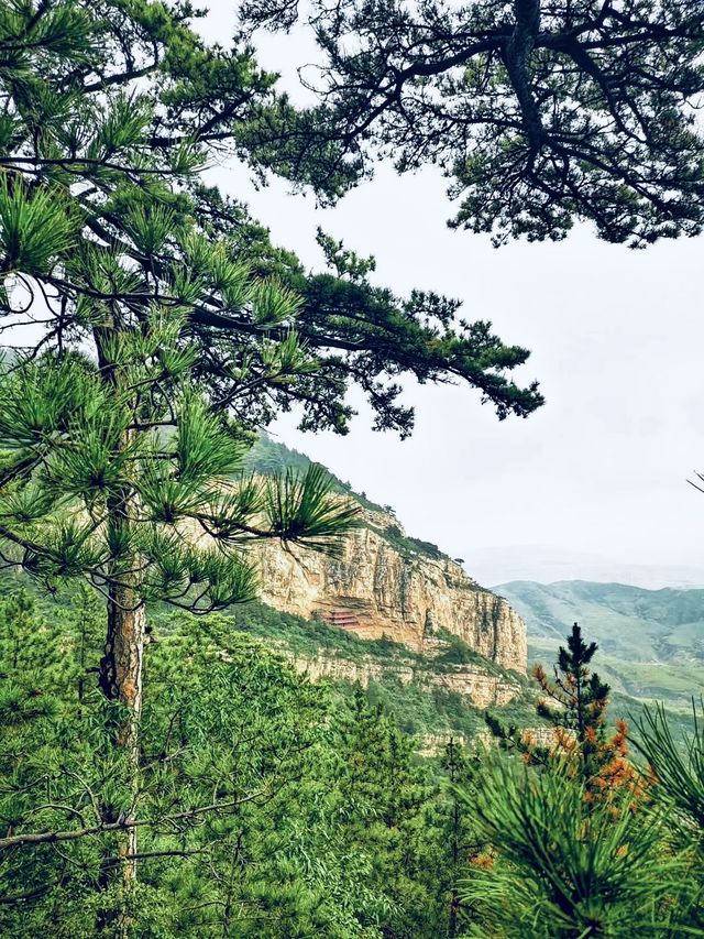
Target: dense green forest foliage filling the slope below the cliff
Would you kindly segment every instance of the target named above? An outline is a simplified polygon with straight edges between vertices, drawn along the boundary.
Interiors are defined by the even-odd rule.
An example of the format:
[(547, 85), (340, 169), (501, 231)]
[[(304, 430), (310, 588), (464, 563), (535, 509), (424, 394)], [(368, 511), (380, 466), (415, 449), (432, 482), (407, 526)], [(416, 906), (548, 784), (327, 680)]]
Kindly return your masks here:
[[(12, 850), (0, 839), (0, 931), (92, 937), (124, 904), (100, 881), (119, 850), (119, 828), (106, 826), (119, 826), (134, 798), (124, 751), (112, 745), (119, 707), (96, 687), (101, 612), (88, 589), (57, 604), (0, 586), (3, 838), (94, 829)], [(403, 654), (262, 607), (237, 614), (268, 643), (295, 642), (297, 630), (302, 642), (308, 629), (312, 645), (301, 649), (337, 635), (345, 655), (374, 647), (393, 666)], [(419, 763), (418, 736), (438, 732), (443, 716), (450, 735), (481, 727), (459, 696), (391, 679), (366, 691), (316, 688), (229, 615), (194, 623), (163, 609), (155, 621), (132, 935), (702, 935), (690, 808), (701, 740), (688, 757), (663, 719), (642, 734), (662, 782), (634, 814), (628, 790), (590, 804), (579, 776), (469, 757), (455, 741)], [(529, 720), (526, 710), (520, 722)]]

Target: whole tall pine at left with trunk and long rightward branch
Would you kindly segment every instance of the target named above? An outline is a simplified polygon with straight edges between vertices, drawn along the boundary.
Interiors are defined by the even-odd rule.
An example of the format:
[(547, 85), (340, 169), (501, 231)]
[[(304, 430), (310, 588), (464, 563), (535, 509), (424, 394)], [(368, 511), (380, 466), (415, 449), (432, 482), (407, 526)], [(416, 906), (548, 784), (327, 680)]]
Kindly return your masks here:
[[(0, 2), (0, 332), (16, 347), (0, 370), (0, 557), (105, 597), (98, 678), (134, 779), (146, 603), (245, 600), (248, 542), (320, 547), (351, 521), (319, 469), (243, 476), (254, 428), (299, 404), (301, 426), (344, 433), (358, 382), (377, 426), (405, 435), (402, 373), (458, 375), (499, 417), (542, 401), (507, 376), (527, 351), (485, 321), (454, 328), (455, 302), (371, 285), (372, 263), (322, 234), (334, 274), (308, 277), (206, 185), (209, 161), (252, 156), (246, 129), (287, 105), (250, 47), (209, 47), (195, 15)], [(129, 831), (127, 858), (133, 809), (106, 822)]]

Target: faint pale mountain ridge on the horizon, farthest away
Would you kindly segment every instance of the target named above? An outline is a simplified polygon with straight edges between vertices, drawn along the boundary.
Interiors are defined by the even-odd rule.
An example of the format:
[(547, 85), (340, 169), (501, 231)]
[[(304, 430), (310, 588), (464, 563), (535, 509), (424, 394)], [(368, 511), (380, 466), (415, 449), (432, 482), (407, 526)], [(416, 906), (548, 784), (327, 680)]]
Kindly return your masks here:
[(509, 545), (477, 548), (465, 553), (468, 569), (480, 583), (508, 583), (535, 580), (590, 580), (627, 583), (658, 590), (662, 587), (704, 588), (704, 564), (651, 565), (619, 564), (601, 555), (547, 545)]

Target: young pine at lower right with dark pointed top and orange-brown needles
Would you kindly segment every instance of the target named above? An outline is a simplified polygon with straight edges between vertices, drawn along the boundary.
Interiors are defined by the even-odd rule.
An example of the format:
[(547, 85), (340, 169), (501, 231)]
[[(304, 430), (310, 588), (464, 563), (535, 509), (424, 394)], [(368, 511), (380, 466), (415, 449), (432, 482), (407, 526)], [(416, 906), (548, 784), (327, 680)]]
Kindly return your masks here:
[(487, 720), (509, 755), (486, 763), (481, 786), (465, 787), (466, 808), (494, 855), (460, 888), (476, 916), (470, 935), (698, 935), (701, 734), (695, 728), (685, 755), (662, 710), (646, 711), (637, 746), (651, 768), (636, 767), (625, 722), (607, 732), (609, 688), (591, 670), (596, 651), (575, 623), (553, 680), (534, 669), (544, 695), (537, 711), (554, 729), (551, 744)]

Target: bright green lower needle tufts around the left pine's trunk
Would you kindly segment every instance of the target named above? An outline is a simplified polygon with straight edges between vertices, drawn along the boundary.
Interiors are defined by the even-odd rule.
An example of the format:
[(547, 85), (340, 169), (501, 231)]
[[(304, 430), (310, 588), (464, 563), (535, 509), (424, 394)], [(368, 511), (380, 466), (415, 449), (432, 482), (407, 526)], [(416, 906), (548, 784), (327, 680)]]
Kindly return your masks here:
[[(0, 493), (6, 564), (47, 583), (86, 576), (109, 592), (139, 554), (138, 596), (208, 610), (254, 596), (243, 541), (318, 546), (353, 520), (353, 509), (328, 499), (315, 468), (301, 480), (234, 482), (249, 438), (189, 386), (187, 364), (164, 374), (168, 339), (154, 324), (101, 343), (120, 370), (117, 385), (77, 354), (20, 359), (0, 376), (0, 435), (18, 454)], [(169, 424), (175, 433), (164, 437)], [(139, 512), (116, 512), (136, 504)], [(199, 526), (210, 545), (173, 537), (184, 524)]]

